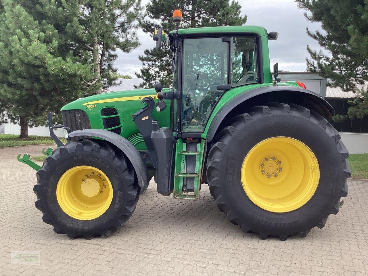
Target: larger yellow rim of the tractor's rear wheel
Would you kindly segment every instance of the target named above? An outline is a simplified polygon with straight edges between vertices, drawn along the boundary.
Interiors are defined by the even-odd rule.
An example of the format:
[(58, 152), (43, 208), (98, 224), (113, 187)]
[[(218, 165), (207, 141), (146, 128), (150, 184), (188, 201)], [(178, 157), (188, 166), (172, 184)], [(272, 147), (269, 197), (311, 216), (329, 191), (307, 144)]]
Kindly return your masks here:
[(273, 137), (255, 145), (243, 161), (241, 183), (248, 198), (275, 213), (296, 210), (314, 195), (318, 161), (297, 139)]

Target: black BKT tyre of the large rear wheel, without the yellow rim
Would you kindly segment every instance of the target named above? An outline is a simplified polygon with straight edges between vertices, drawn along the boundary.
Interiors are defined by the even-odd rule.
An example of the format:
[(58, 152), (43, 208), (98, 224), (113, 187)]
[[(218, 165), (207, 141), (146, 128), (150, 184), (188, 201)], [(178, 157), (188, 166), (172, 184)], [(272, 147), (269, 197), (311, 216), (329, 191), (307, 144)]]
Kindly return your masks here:
[[(247, 197), (240, 179), (243, 160), (253, 146), (278, 136), (307, 145), (320, 169), (319, 184), (311, 199), (286, 213), (259, 208)], [(252, 107), (234, 117), (216, 136), (207, 161), (210, 193), (227, 219), (240, 225), (245, 233), (258, 233), (262, 239), (278, 236), (286, 240), (295, 234), (305, 237), (313, 227), (325, 226), (328, 216), (339, 212), (340, 197), (347, 196), (351, 171), (346, 160), (348, 151), (340, 138), (325, 118), (302, 106), (269, 103)]]

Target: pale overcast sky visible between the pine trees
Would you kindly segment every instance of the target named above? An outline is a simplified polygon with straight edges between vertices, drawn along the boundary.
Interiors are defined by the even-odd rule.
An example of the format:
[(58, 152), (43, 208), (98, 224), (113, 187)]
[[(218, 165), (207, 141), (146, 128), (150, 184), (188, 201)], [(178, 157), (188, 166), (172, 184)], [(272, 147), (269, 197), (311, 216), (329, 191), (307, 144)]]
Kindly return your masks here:
[[(143, 0), (145, 5), (148, 0)], [(312, 24), (304, 18), (304, 11), (299, 10), (293, 0), (239, 0), (242, 6), (241, 14), (247, 15), (246, 25), (260, 25), (268, 32), (279, 32), (276, 41), (269, 40), (271, 65), (279, 63), (280, 70), (304, 71), (307, 67), (305, 58), (308, 56), (307, 44), (312, 49), (319, 50), (318, 43), (309, 38), (305, 32), (308, 26), (311, 30), (321, 29), (319, 24)], [(115, 66), (122, 74), (131, 75), (141, 67), (138, 55), (143, 54), (144, 49), (154, 47), (152, 38), (138, 30), (142, 45), (130, 54), (118, 51), (118, 59)], [(272, 68), (272, 67), (271, 67)]]

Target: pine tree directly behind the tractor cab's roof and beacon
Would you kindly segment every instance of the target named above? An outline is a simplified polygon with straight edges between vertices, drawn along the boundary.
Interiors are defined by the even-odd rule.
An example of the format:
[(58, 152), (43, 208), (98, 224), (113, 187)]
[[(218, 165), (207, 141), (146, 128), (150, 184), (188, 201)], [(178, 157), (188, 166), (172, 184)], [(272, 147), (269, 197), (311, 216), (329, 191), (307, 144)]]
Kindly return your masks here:
[[(240, 15), (241, 5), (237, 1), (151, 0), (146, 5), (147, 18), (141, 21), (140, 27), (145, 33), (152, 33), (158, 20), (164, 29), (176, 29), (171, 19), (174, 9), (181, 10), (183, 14), (180, 28), (243, 25), (247, 21), (246, 15)], [(143, 81), (136, 88), (152, 88), (156, 82), (164, 87), (171, 86), (171, 56), (171, 52), (146, 49), (144, 55), (138, 57), (142, 61), (142, 68), (135, 75)]]

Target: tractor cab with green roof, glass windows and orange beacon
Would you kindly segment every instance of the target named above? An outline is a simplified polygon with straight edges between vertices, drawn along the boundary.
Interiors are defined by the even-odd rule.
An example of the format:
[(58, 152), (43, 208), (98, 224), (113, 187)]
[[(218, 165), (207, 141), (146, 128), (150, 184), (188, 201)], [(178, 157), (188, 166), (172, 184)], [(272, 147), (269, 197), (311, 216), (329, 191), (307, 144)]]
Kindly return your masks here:
[[(225, 91), (264, 82), (263, 70), (270, 78), (269, 66), (261, 64), (261, 43), (265, 43), (263, 54), (268, 55), (267, 39), (276, 40), (278, 34), (267, 34), (258, 26), (179, 29), (181, 13), (174, 13), (177, 30), (159, 28), (153, 34), (156, 49), (170, 50), (173, 55), (171, 91), (158, 96), (170, 99), (171, 109), (176, 110), (172, 129), (178, 137), (200, 137)], [(156, 87), (160, 92), (161, 86)]]

